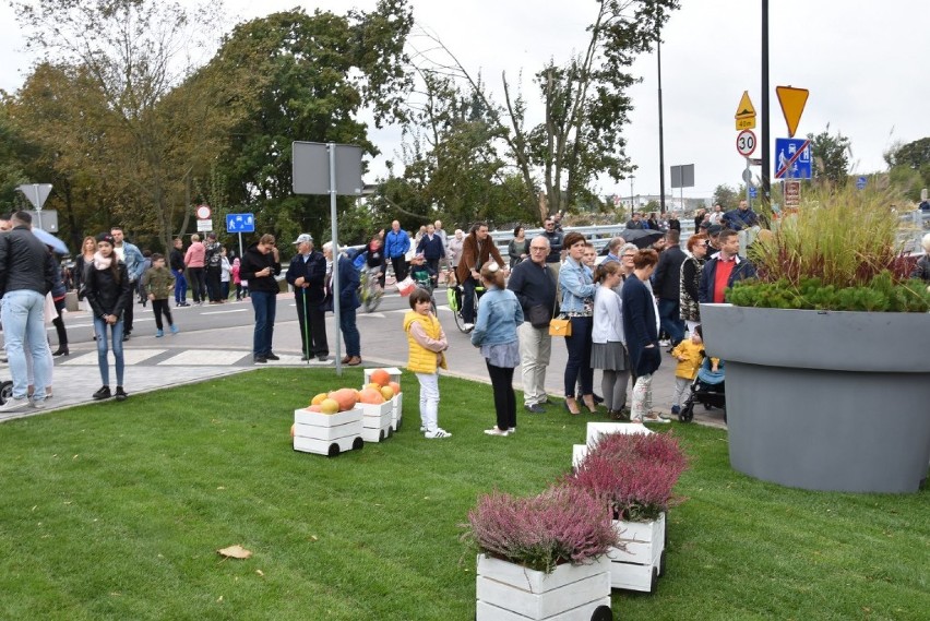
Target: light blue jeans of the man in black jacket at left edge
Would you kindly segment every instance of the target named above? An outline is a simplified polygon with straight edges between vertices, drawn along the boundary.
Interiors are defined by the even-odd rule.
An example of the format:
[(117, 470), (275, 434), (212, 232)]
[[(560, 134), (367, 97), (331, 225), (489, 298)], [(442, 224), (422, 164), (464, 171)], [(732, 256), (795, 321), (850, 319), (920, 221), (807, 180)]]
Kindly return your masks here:
[(25, 398), (28, 392), (28, 369), (23, 342), (29, 344), (33, 361), (33, 397), (45, 398), (45, 387), (51, 383), (45, 363), (47, 337), (45, 334), (45, 296), (31, 289), (7, 291), (0, 311), (3, 322), (3, 338), (10, 374), (13, 377), (13, 398)]

